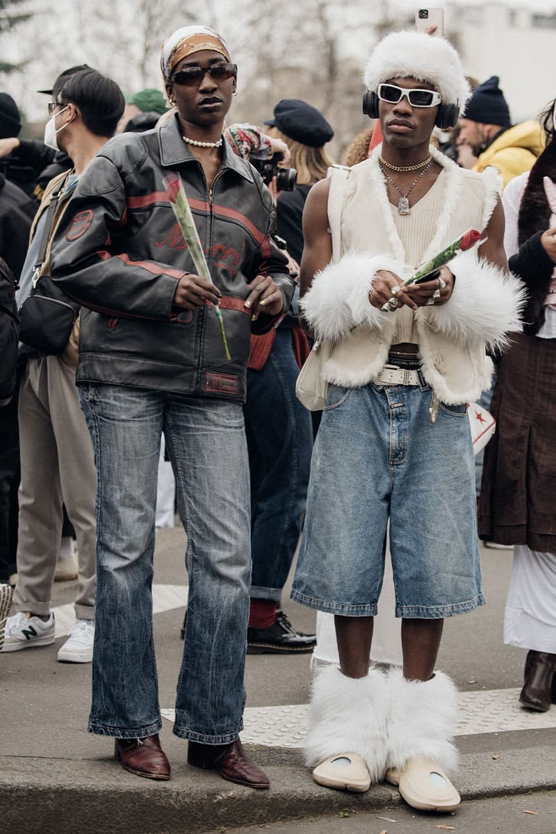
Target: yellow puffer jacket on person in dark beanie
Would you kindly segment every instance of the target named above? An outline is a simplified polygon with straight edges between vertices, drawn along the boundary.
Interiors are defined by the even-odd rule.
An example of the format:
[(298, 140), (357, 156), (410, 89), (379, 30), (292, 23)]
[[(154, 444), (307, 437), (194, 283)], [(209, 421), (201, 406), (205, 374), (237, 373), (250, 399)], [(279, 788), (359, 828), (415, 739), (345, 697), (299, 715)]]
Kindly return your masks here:
[(510, 179), (533, 168), (537, 157), (544, 150), (544, 133), (534, 119), (508, 128), (488, 145), (473, 165), (473, 171), (484, 171), (489, 165), (498, 168), (504, 188)]

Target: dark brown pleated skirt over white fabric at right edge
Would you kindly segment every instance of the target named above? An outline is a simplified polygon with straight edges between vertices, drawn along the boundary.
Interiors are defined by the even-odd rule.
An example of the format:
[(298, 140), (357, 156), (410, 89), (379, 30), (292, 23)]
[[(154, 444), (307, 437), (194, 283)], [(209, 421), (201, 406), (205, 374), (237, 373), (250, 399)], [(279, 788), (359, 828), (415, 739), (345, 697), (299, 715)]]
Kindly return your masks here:
[(513, 334), (493, 394), (478, 535), (556, 553), (556, 339)]

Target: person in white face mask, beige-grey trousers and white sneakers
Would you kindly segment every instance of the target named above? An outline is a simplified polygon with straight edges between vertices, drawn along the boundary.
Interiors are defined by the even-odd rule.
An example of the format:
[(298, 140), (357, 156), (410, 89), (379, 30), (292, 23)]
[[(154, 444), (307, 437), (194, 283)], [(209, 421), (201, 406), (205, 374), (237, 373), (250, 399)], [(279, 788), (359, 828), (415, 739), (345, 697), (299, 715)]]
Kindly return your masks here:
[[(53, 86), (44, 142), (68, 153), (73, 168), (48, 183), (31, 229), (18, 304), (30, 289), (33, 267), (46, 236), (40, 274), (48, 274), (50, 246), (88, 163), (108, 141), (123, 113), (118, 85), (93, 69), (63, 73)], [(48, 228), (48, 208), (55, 203)], [(78, 321), (76, 323), (78, 325)], [(75, 369), (78, 326), (61, 355), (30, 354), (19, 394), (21, 485), (19, 488), (18, 582), (15, 614), (6, 624), (3, 652), (54, 642), (50, 598), (60, 548), (62, 505), (78, 541), (77, 622), (58, 651), (58, 661), (93, 659), (95, 590), (95, 490), (93, 446), (83, 418)]]

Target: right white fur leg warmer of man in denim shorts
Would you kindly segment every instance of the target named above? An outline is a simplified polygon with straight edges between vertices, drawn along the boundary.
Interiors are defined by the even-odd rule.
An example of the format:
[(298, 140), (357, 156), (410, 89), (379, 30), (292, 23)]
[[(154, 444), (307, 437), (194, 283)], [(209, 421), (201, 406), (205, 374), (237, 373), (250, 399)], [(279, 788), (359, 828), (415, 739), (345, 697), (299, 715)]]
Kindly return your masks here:
[(411, 759), (425, 756), (453, 771), (458, 763), (453, 744), (458, 692), (453, 681), (443, 672), (430, 681), (407, 681), (396, 668), (388, 671), (388, 685), (388, 767), (403, 769)]

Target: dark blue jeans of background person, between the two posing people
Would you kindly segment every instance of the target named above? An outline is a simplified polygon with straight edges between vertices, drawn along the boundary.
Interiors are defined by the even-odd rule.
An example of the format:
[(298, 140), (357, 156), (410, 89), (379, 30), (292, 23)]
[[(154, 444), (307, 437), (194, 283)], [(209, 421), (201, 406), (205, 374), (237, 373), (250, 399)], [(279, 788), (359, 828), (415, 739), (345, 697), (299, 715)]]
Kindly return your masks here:
[(251, 596), (279, 603), (298, 546), (313, 450), (311, 414), (295, 395), (292, 331), (278, 329), (262, 370), (248, 369), (243, 407), (251, 474)]

